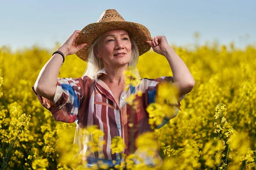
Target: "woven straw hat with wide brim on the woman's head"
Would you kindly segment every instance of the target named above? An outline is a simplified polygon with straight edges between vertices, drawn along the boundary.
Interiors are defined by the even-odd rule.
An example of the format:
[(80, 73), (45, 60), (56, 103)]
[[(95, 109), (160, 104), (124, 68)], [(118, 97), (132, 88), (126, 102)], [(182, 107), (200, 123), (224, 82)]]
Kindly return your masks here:
[(139, 24), (125, 21), (115, 9), (104, 11), (96, 23), (91, 23), (85, 26), (76, 37), (75, 46), (87, 43), (87, 45), (79, 50), (76, 55), (84, 61), (88, 59), (88, 48), (93, 44), (93, 41), (103, 32), (112, 29), (125, 29), (134, 38), (140, 55), (149, 51), (151, 46), (146, 41), (151, 40), (148, 28)]

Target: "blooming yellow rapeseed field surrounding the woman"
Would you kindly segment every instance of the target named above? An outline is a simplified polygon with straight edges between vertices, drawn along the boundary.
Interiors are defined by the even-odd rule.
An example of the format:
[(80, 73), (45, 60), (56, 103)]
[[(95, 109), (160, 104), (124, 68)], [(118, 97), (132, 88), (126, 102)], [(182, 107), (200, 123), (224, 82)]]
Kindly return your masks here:
[[(244, 50), (235, 48), (233, 43), (227, 47), (201, 45), (195, 50), (173, 48), (188, 66), (195, 87), (181, 101), (182, 111), (174, 119), (134, 141), (150, 154), (157, 135), (163, 166), (134, 164), (134, 155), (129, 155), (126, 167), (255, 169), (256, 46), (248, 45)], [(54, 50), (34, 46), (11, 52), (9, 48), (0, 48), (1, 170), (85, 169), (84, 163), (72, 156), (72, 150), (77, 149), (73, 147), (75, 123), (55, 121), (31, 88)], [(85, 67), (86, 63), (76, 55), (67, 56), (58, 77), (81, 77)], [(166, 58), (153, 51), (140, 57), (137, 69), (142, 78), (172, 76)], [(150, 123), (158, 125), (157, 118), (163, 117), (166, 108), (157, 103), (149, 107)], [(95, 127), (89, 131), (98, 139), (102, 136)], [(122, 139), (113, 138), (112, 152), (120, 153), (124, 147)], [(101, 168), (106, 166), (102, 164)], [(116, 169), (122, 169), (122, 165)]]

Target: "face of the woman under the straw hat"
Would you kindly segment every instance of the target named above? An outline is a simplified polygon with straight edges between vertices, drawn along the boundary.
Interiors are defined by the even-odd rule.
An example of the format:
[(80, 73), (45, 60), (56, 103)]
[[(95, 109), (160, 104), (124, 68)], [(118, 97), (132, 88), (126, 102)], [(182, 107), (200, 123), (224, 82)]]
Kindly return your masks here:
[(131, 60), (131, 40), (128, 31), (115, 29), (106, 31), (99, 40), (96, 56), (102, 58), (104, 66), (124, 66)]

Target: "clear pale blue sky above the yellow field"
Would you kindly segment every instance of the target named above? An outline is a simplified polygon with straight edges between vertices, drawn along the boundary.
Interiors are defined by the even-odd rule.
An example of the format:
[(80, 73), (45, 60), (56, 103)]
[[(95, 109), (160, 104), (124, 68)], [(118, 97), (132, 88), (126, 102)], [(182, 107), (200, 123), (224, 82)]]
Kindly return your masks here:
[(0, 46), (12, 50), (34, 44), (53, 48), (73, 33), (116, 9), (126, 21), (146, 26), (152, 37), (191, 45), (218, 40), (236, 47), (256, 44), (256, 0), (5, 0), (0, 6)]

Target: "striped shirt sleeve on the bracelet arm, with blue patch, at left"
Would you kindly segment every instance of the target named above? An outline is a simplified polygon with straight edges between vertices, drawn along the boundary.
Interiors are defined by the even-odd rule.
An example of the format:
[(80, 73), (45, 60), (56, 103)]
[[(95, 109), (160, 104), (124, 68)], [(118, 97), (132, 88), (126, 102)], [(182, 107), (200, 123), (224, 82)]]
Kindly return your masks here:
[(89, 77), (58, 78), (53, 102), (36, 93), (41, 105), (52, 113), (55, 120), (60, 122), (75, 122), (81, 100), (84, 97), (84, 87)]

